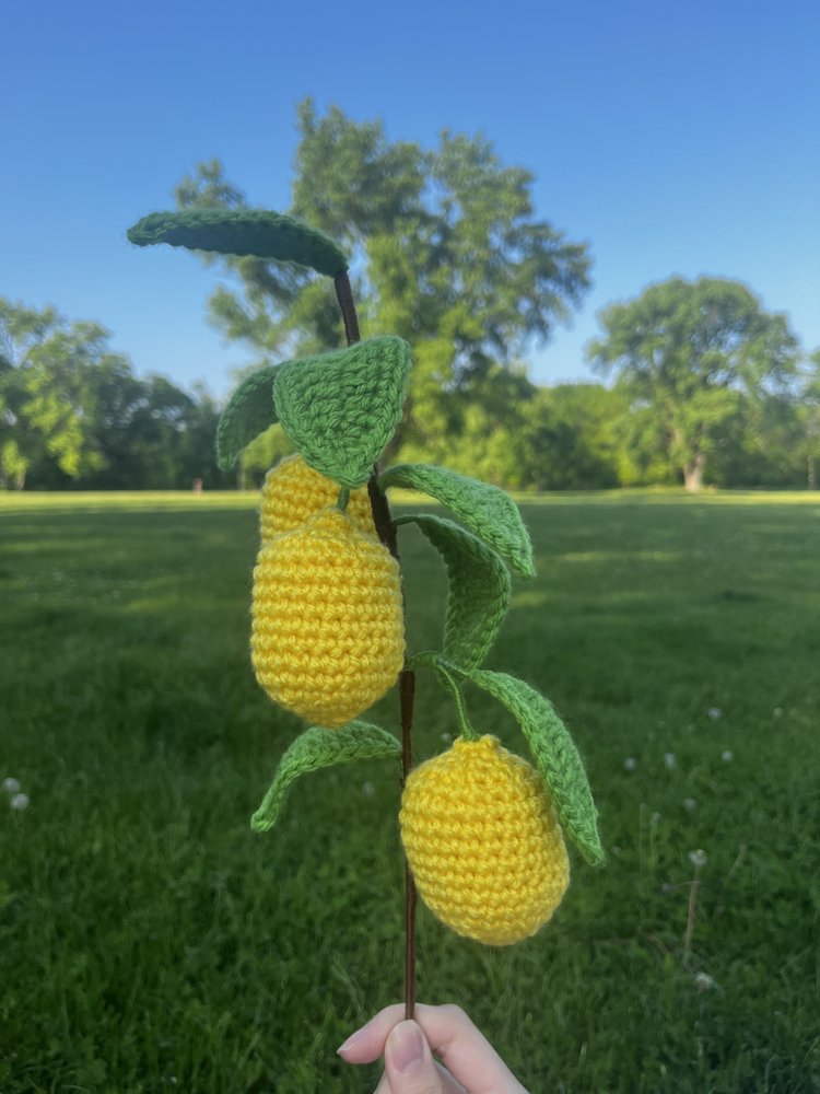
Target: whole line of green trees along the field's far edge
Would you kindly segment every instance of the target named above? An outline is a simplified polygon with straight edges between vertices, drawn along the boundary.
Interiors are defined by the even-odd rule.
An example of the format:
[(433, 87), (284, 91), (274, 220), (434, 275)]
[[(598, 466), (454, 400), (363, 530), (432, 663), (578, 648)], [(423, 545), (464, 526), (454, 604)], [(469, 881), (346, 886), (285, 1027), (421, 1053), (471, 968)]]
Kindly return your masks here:
[[(586, 243), (536, 216), (532, 176), (481, 137), (426, 150), (379, 121), (297, 107), (293, 216), (353, 255), (365, 334), (413, 348), (395, 458), (442, 463), (507, 488), (683, 482), (816, 487), (820, 352), (739, 282), (670, 278), (600, 316), (589, 347), (610, 383), (541, 387), (527, 353), (590, 284)], [(180, 208), (246, 206), (219, 161), (176, 188)], [(291, 264), (201, 256), (222, 282), (210, 318), (260, 363), (339, 346), (332, 293)], [(258, 365), (257, 365), (258, 366)], [(96, 323), (0, 301), (0, 485), (168, 489), (237, 484), (213, 459), (219, 407), (138, 377)], [(286, 451), (274, 427), (245, 452), (239, 484)]]

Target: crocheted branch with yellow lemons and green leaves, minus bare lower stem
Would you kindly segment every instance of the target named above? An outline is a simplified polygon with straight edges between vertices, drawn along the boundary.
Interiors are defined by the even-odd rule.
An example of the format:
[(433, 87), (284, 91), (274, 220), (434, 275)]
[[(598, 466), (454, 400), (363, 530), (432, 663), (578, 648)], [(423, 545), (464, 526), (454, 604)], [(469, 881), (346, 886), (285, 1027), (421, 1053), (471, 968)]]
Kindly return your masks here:
[[(224, 468), (277, 421), (295, 450), (262, 489), (250, 647), (271, 699), (315, 724), (282, 756), (253, 827), (274, 826), (302, 775), (398, 757), (395, 735), (361, 714), (400, 677), (407, 722), (412, 674), (431, 670), (453, 698), (460, 732), (409, 773), (405, 736), (399, 822), (419, 892), (459, 934), (506, 945), (535, 933), (569, 884), (564, 834), (593, 864), (604, 852), (584, 765), (554, 708), (523, 680), (481, 667), (509, 605), (509, 570), (535, 572), (517, 507), (442, 467), (402, 464), (375, 478), (401, 420), (410, 349), (389, 335), (358, 341), (347, 260), (320, 233), (265, 210), (185, 210), (144, 218), (129, 238), (300, 263), (333, 278), (343, 313), (347, 349), (259, 370), (236, 389), (218, 430)], [(394, 487), (427, 494), (455, 520), (394, 521), (385, 501)], [(408, 523), (438, 551), (448, 578), (442, 649), (409, 659), (395, 549)], [(532, 764), (472, 729), (466, 686), (512, 713)]]

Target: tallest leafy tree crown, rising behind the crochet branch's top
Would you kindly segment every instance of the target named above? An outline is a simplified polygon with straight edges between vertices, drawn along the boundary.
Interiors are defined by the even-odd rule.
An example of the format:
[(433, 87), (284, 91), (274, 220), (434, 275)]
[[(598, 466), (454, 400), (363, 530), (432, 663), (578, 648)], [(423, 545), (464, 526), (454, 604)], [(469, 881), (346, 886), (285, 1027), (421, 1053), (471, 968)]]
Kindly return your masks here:
[[(452, 426), (493, 364), (509, 368), (547, 339), (588, 288), (589, 256), (535, 216), (532, 176), (504, 166), (482, 137), (443, 132), (433, 151), (388, 141), (380, 121), (297, 107), (290, 212), (353, 255), (363, 331), (414, 349), (403, 442), (423, 446)], [(219, 161), (176, 189), (180, 207), (245, 203)], [(210, 260), (210, 259), (209, 259)], [(326, 283), (288, 264), (221, 259), (238, 282), (210, 301), (212, 322), (265, 360), (339, 345)], [(477, 396), (480, 403), (480, 397)]]

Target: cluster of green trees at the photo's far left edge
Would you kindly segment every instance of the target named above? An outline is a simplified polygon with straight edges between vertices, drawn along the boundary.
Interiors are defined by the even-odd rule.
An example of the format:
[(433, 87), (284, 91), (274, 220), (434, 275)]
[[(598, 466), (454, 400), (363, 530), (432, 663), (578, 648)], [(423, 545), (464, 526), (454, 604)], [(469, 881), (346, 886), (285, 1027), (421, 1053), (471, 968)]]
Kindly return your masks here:
[(219, 410), (161, 376), (136, 376), (97, 323), (0, 299), (0, 486), (223, 485)]

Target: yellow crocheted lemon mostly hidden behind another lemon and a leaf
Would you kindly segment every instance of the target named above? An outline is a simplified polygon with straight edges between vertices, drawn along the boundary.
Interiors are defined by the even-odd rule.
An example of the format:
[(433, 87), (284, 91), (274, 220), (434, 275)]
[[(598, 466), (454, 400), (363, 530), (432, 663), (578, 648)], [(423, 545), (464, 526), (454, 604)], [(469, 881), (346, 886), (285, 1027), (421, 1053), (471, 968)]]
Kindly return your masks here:
[[(285, 456), (265, 477), (259, 511), (262, 539), (292, 532), (319, 509), (333, 505), (338, 497), (338, 482), (319, 475), (302, 456)], [(345, 512), (360, 531), (376, 534), (366, 487), (350, 491)]]

